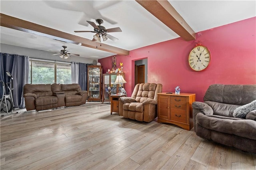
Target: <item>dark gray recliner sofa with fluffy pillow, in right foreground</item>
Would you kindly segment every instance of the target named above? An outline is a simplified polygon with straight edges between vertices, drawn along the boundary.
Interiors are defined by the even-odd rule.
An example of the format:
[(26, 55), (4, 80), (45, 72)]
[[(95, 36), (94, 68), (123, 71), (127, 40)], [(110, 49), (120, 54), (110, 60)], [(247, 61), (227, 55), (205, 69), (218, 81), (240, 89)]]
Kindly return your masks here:
[[(204, 102), (192, 103), (198, 136), (256, 153), (256, 109), (239, 118), (236, 110), (256, 100), (256, 85), (210, 85)], [(248, 104), (250, 103), (250, 104)]]

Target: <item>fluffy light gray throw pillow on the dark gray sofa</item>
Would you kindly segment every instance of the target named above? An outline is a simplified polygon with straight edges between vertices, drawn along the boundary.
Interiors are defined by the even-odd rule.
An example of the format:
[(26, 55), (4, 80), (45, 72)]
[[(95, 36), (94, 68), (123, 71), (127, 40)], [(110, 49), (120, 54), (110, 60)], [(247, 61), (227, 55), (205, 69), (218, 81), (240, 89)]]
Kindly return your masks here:
[(250, 111), (256, 110), (256, 100), (248, 103), (246, 105), (240, 106), (234, 110), (233, 117), (245, 119), (247, 113)]

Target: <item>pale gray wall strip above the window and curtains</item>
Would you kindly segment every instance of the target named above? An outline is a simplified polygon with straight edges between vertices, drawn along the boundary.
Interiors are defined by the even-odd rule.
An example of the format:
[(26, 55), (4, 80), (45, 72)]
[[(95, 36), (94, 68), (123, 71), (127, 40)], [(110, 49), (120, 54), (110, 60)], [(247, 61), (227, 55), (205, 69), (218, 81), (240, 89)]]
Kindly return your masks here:
[[(8, 45), (1, 43), (0, 44), (0, 52), (1, 53), (8, 53), (8, 54), (18, 54), (18, 55), (26, 55), (31, 58), (38, 58), (38, 59), (50, 59), (56, 61), (66, 61), (66, 62), (80, 62), (80, 63), (88, 63), (92, 64), (95, 59), (89, 59), (85, 57), (78, 57), (78, 56), (71, 56), (68, 59), (60, 58), (59, 55), (52, 55), (54, 53), (49, 51), (42, 51), (38, 49), (31, 49), (25, 47), (18, 47), (14, 45)], [(94, 63), (97, 61), (94, 61)]]

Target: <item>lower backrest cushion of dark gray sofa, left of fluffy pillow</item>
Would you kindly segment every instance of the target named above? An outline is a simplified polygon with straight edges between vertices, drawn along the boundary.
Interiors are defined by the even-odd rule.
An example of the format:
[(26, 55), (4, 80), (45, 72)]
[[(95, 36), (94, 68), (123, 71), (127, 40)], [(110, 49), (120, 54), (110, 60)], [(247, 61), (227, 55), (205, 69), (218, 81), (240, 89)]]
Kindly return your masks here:
[(234, 110), (241, 105), (231, 105), (225, 103), (219, 103), (214, 101), (205, 101), (210, 107), (212, 107), (214, 115), (233, 117)]

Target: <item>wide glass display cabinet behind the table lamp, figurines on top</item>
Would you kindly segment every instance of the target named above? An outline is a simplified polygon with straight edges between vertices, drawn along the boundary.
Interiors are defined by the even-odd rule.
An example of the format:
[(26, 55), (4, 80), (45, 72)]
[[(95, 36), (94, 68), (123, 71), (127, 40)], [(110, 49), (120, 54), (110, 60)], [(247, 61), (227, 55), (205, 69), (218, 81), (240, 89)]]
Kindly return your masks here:
[[(124, 77), (124, 73), (103, 74), (102, 103), (104, 103), (104, 101), (109, 102), (110, 95), (115, 95), (119, 92), (118, 91), (119, 84), (114, 84), (116, 81), (117, 75), (122, 75)], [(108, 93), (108, 87), (110, 87), (110, 93)], [(124, 87), (124, 83), (122, 84), (122, 87)]]

